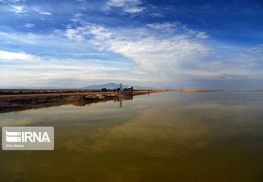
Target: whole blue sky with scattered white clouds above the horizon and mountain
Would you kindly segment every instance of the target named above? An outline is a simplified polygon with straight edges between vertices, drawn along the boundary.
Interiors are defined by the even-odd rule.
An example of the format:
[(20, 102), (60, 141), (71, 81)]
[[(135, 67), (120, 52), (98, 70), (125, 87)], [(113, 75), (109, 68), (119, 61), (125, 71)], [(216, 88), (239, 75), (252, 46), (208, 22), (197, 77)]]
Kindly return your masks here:
[(263, 1), (0, 0), (0, 88), (263, 89)]

